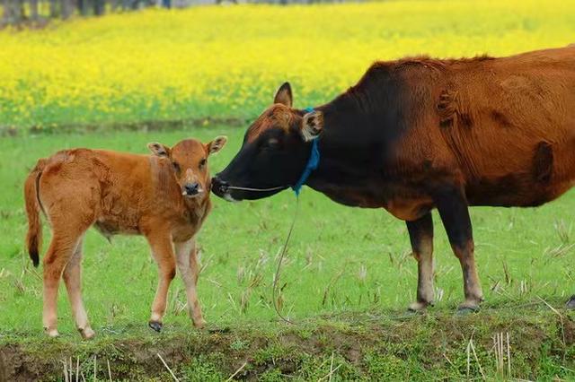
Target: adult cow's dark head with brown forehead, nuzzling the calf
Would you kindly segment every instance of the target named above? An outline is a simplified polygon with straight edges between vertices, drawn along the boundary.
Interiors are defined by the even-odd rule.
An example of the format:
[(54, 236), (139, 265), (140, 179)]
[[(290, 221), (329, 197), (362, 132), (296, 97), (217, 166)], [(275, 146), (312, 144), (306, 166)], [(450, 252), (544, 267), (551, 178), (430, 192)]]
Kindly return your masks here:
[(296, 184), (310, 155), (309, 142), (322, 132), (323, 114), (292, 109), (292, 102), (286, 82), (248, 128), (234, 159), (213, 178), (216, 195), (228, 201), (260, 199)]

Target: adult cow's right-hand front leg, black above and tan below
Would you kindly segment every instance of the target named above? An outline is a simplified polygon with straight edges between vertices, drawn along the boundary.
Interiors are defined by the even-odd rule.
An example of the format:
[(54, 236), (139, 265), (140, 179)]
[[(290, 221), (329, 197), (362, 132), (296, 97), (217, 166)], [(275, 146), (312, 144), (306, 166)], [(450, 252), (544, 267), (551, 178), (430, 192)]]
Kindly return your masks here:
[(464, 192), (457, 187), (448, 187), (435, 195), (435, 202), (464, 273), (465, 301), (459, 310), (477, 310), (483, 300), (483, 293), (475, 267), (473, 230)]

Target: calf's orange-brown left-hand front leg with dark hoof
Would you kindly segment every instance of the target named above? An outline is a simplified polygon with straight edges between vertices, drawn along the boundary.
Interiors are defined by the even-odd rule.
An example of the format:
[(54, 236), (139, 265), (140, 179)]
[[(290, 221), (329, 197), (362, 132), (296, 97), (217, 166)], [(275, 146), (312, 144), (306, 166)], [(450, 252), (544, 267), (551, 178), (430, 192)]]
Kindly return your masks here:
[(173, 244), (169, 233), (154, 232), (146, 235), (146, 239), (152, 248), (152, 256), (154, 256), (158, 265), (159, 276), (158, 287), (155, 291), (154, 303), (152, 304), (152, 315), (148, 325), (156, 332), (160, 332), (163, 326), (162, 320), (164, 318), (168, 290), (176, 274)]

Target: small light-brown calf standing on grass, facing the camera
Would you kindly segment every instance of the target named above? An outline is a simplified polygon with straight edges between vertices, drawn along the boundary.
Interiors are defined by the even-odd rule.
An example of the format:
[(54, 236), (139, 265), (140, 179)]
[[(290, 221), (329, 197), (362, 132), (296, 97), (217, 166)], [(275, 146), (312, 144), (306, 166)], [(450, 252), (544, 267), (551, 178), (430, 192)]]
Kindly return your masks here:
[(153, 155), (74, 149), (38, 161), (26, 179), (27, 246), (39, 263), (40, 209), (52, 229), (44, 257), (44, 329), (57, 336), (57, 290), (63, 275), (75, 323), (84, 338), (94, 335), (81, 296), (82, 244), (91, 226), (114, 234), (146, 237), (159, 269), (149, 326), (160, 331), (176, 265), (186, 287), (190, 317), (204, 325), (196, 282), (195, 235), (211, 208), (208, 156), (226, 144), (188, 139), (173, 148), (149, 143)]

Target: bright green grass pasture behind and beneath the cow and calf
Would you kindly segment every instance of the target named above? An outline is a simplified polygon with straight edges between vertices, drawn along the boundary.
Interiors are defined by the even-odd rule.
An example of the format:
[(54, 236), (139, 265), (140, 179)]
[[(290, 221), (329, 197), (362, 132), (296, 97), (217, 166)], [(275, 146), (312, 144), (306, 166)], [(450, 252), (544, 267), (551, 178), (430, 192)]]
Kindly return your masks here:
[[(311, 341), (310, 333), (327, 331), (327, 334), (323, 335), (328, 335), (328, 338), (336, 334), (344, 337), (347, 335), (344, 344), (349, 344), (353, 343), (349, 331), (371, 333), (367, 326), (381, 325), (378, 326), (377, 333), (383, 335), (381, 338), (384, 340), (374, 338), (384, 342), (403, 343), (401, 346), (396, 344), (399, 346), (396, 350), (400, 355), (405, 352), (406, 347), (415, 348), (410, 353), (411, 358), (403, 359), (394, 353), (394, 357), (399, 358), (384, 359), (381, 360), (381, 365), (371, 367), (391, 368), (392, 366), (386, 363), (389, 361), (396, 368), (418, 372), (421, 378), (427, 379), (441, 376), (463, 378), (466, 370), (465, 364), (453, 369), (440, 354), (438, 357), (447, 369), (437, 369), (429, 363), (418, 363), (420, 358), (425, 358), (426, 352), (430, 352), (426, 349), (431, 346), (429, 339), (433, 338), (436, 331), (443, 333), (448, 341), (455, 341), (447, 342), (447, 350), (444, 350), (453, 352), (454, 356), (459, 354), (457, 349), (464, 352), (465, 338), (468, 341), (468, 336), (476, 332), (473, 335), (476, 335), (480, 343), (477, 346), (481, 347), (483, 367), (488, 368), (493, 362), (490, 352), (491, 336), (495, 334), (495, 330), (500, 330), (509, 331), (512, 341), (515, 342), (514, 354), (518, 354), (517, 359), (514, 357), (514, 362), (519, 364), (517, 366), (514, 363), (516, 377), (558, 375), (575, 378), (572, 372), (575, 367), (575, 359), (572, 358), (575, 351), (572, 344), (575, 340), (575, 325), (572, 324), (572, 318), (566, 316), (567, 312), (561, 313), (562, 320), (572, 326), (569, 326), (569, 330), (573, 332), (568, 332), (570, 334), (567, 343), (564, 337), (562, 343), (560, 334), (565, 333), (561, 332), (565, 329), (559, 325), (558, 317), (552, 310), (539, 300), (541, 298), (549, 301), (559, 308), (575, 289), (575, 270), (572, 266), (575, 229), (571, 213), (575, 210), (575, 194), (572, 192), (539, 209), (473, 209), (476, 254), (487, 302), (483, 313), (462, 319), (452, 317), (457, 303), (462, 300), (461, 271), (447, 244), (443, 228), (438, 224), (437, 216), (437, 307), (431, 309), (429, 317), (414, 317), (403, 323), (401, 317), (404, 308), (414, 299), (417, 276), (416, 263), (410, 256), (409, 240), (403, 222), (395, 220), (384, 211), (353, 209), (333, 204), (323, 195), (306, 188), (301, 196), (301, 210), (288, 260), (282, 271), (282, 284), (285, 282), (281, 293), (282, 311), (297, 323), (294, 328), (288, 326), (287, 329), (286, 326), (277, 324), (278, 317), (271, 306), (271, 282), (279, 248), (294, 213), (295, 196), (284, 192), (268, 200), (242, 204), (229, 204), (215, 198), (214, 211), (199, 235), (204, 267), (199, 280), (199, 297), (209, 323), (208, 327), (212, 330), (231, 328), (232, 334), (211, 336), (194, 334), (195, 331), (183, 309), (185, 295), (179, 279), (173, 283), (169, 295), (168, 313), (165, 317), (167, 333), (158, 336), (147, 329), (146, 322), (155, 292), (156, 267), (149, 256), (145, 240), (137, 237), (117, 237), (110, 245), (106, 239), (91, 230), (85, 243), (84, 302), (100, 338), (92, 345), (79, 343), (66, 291), (62, 287), (58, 305), (58, 328), (63, 337), (57, 342), (47, 343), (41, 333), (41, 273), (31, 267), (23, 249), (26, 221), (22, 208), (22, 180), (36, 158), (60, 148), (75, 146), (146, 152), (146, 143), (151, 140), (175, 143), (184, 136), (193, 135), (207, 141), (219, 134), (228, 135), (229, 146), (210, 163), (212, 171), (217, 171), (223, 168), (237, 150), (243, 135), (242, 130), (215, 126), (170, 133), (118, 132), (105, 135), (5, 138), (3, 151), (0, 153), (0, 178), (3, 179), (4, 185), (4, 192), (0, 194), (0, 254), (3, 259), (0, 263), (0, 343), (24, 343), (24, 346), (32, 349), (26, 348), (28, 357), (30, 352), (41, 352), (46, 346), (49, 346), (49, 349), (54, 347), (53, 351), (45, 353), (52, 358), (66, 353), (64, 350), (74, 357), (82, 356), (83, 362), (91, 360), (88, 354), (100, 354), (102, 360), (107, 356), (116, 361), (115, 366), (112, 363), (115, 375), (135, 378), (134, 374), (122, 369), (127, 368), (126, 364), (122, 363), (124, 360), (118, 354), (111, 354), (110, 349), (116, 349), (117, 346), (124, 350), (131, 349), (130, 346), (146, 349), (146, 346), (152, 343), (149, 345), (153, 345), (154, 349), (172, 349), (173, 354), (180, 351), (175, 350), (178, 349), (173, 344), (175, 340), (169, 339), (179, 337), (177, 343), (184, 349), (195, 349), (192, 353), (196, 356), (198, 349), (208, 346), (209, 352), (206, 354), (211, 354), (210, 357), (214, 357), (216, 349), (216, 354), (219, 354), (216, 357), (226, 358), (228, 354), (222, 351), (222, 347), (224, 350), (236, 345), (242, 348), (244, 342), (253, 345), (243, 349), (241, 354), (251, 354), (246, 358), (252, 360), (251, 370), (254, 373), (259, 370), (258, 375), (261, 375), (270, 369), (270, 365), (275, 364), (271, 361), (275, 360), (274, 357), (282, 360), (287, 357), (288, 360), (294, 361), (290, 358), (294, 350), (285, 341), (288, 341), (290, 346), (296, 346), (298, 353), (305, 354), (307, 351), (314, 354), (316, 358), (307, 360), (312, 363), (306, 367), (319, 367), (325, 357), (329, 359), (333, 349), (341, 350), (341, 344), (326, 343), (321, 348), (322, 351), (310, 351), (305, 346), (312, 349), (317, 346), (316, 339), (313, 344), (305, 344), (305, 341)], [(48, 235), (45, 235), (45, 238), (48, 240)], [(530, 306), (535, 309), (525, 308)], [(453, 319), (456, 321), (452, 321)], [(439, 325), (437, 320), (445, 321), (445, 325)], [(466, 329), (459, 327), (458, 323), (464, 323)], [(524, 334), (523, 331), (527, 329), (527, 334)], [(406, 330), (415, 337), (406, 336), (401, 340), (388, 337), (394, 336), (397, 330)], [(295, 334), (292, 331), (304, 339), (294, 340), (292, 336)], [(444, 331), (447, 331), (447, 334)], [(455, 335), (455, 339), (451, 334)], [(263, 352), (257, 345), (263, 343), (262, 338), (268, 338), (267, 341), (271, 342), (266, 346), (271, 347), (268, 351), (272, 353), (269, 360), (261, 360), (266, 366), (258, 369), (257, 362), (253, 360), (257, 359), (259, 352)], [(288, 339), (278, 344), (272, 342), (274, 338)], [(236, 341), (239, 341), (239, 344), (234, 345)], [(296, 343), (293, 343), (294, 341)], [(557, 351), (550, 347), (548, 341), (562, 343), (559, 360), (551, 361), (545, 358), (550, 356), (549, 354), (556, 355)], [(118, 342), (123, 345), (118, 345)], [(373, 341), (368, 343), (375, 346)], [(279, 349), (274, 348), (279, 345)], [(533, 352), (533, 346), (539, 358), (530, 358), (535, 357), (535, 354), (529, 353)], [(381, 351), (381, 347), (373, 349)], [(550, 352), (549, 349), (555, 351)], [(366, 351), (362, 359), (364, 362), (369, 360), (369, 352)], [(337, 354), (338, 357), (343, 357), (342, 360), (346, 358), (339, 352)], [(385, 354), (381, 356), (387, 357)], [(449, 354), (447, 353), (448, 356)], [(124, 357), (128, 355), (124, 354)], [(183, 356), (178, 357), (181, 359)], [(522, 357), (529, 361), (523, 360)], [(22, 359), (26, 357), (22, 356)], [(199, 360), (192, 360), (196, 362), (208, 359), (200, 357)], [(465, 358), (462, 358), (460, 361), (464, 360)], [(149, 362), (144, 358), (144, 362), (146, 361)], [(530, 363), (532, 361), (535, 363)], [(210, 362), (210, 367), (214, 364), (222, 365), (217, 358), (210, 359)], [(434, 362), (437, 363), (438, 360)], [(546, 371), (537, 371), (542, 368), (542, 362), (549, 362), (551, 366), (547, 365)], [(37, 361), (31, 363), (36, 365)], [(217, 370), (227, 370), (231, 374), (234, 368), (241, 366), (236, 363), (224, 362), (227, 369)], [(59, 361), (56, 361), (56, 364), (56, 370), (60, 372)], [(48, 362), (48, 365), (54, 368), (54, 362)], [(158, 365), (162, 369), (161, 364)], [(476, 366), (474, 368), (472, 374), (481, 377), (479, 369)], [(146, 369), (134, 370), (146, 372)], [(368, 371), (368, 368), (366, 370)], [(493, 376), (496, 375), (494, 367), (489, 370)], [(356, 377), (363, 375), (373, 378), (378, 375), (369, 374), (367, 371), (363, 371), (364, 374), (358, 370), (354, 372), (358, 373)], [(182, 369), (180, 372), (184, 373)], [(393, 377), (393, 374), (385, 375)], [(310, 376), (312, 375), (300, 375), (304, 379), (313, 378)]]

